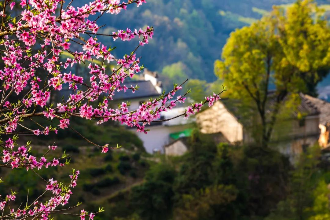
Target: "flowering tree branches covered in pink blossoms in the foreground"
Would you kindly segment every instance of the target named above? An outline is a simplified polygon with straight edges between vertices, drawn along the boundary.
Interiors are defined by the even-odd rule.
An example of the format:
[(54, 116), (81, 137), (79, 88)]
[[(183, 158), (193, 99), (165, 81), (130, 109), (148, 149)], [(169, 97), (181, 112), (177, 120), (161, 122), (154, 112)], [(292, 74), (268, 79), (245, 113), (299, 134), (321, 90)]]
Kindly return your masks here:
[[(109, 107), (109, 101), (113, 100), (116, 93), (122, 90), (135, 92), (138, 89), (138, 86), (128, 88), (123, 82), (143, 69), (136, 51), (148, 44), (154, 29), (149, 26), (145, 30), (126, 28), (105, 35), (98, 33), (100, 27), (96, 21), (105, 13), (118, 14), (129, 5), (136, 4), (139, 7), (145, 2), (94, 0), (75, 8), (71, 1), (63, 9), (63, 0), (20, 0), (17, 7), (21, 11), (15, 17), (6, 12), (9, 9), (13, 10), (16, 1), (5, 0), (4, 4), (0, 5), (0, 52), (3, 61), (3, 68), (0, 69), (0, 135), (6, 137), (6, 140), (0, 143), (3, 150), (0, 166), (32, 170), (46, 183), (45, 193), (52, 193), (50, 199), (44, 198), (43, 193), (33, 203), (16, 209), (10, 206), (10, 203), (15, 201), (16, 192), (5, 197), (0, 196), (1, 219), (46, 220), (52, 214), (69, 214), (65, 211), (76, 207), (58, 209), (58, 206), (68, 203), (72, 194), (71, 189), (77, 185), (79, 171), (73, 170), (69, 185), (52, 178), (45, 180), (34, 171), (51, 166), (65, 166), (69, 163), (70, 157), (64, 153), (58, 158), (48, 158), (49, 151), (57, 148), (54, 143), (49, 145), (49, 149), (42, 157), (37, 158), (31, 153), (30, 141), (25, 145), (18, 144), (18, 135), (39, 136), (49, 135), (49, 132), (57, 134), (58, 129), (70, 128), (87, 142), (100, 147), (102, 153), (106, 153), (111, 146), (107, 143), (101, 146), (85, 138), (70, 125), (71, 117), (96, 119), (98, 124), (111, 119), (147, 133), (147, 124), (163, 121), (159, 120), (162, 111), (171, 110), (177, 102), (184, 102), (189, 91), (175, 97), (182, 89), (183, 82), (181, 85), (176, 84), (168, 93), (163, 92), (159, 97), (141, 104), (137, 110), (129, 111), (129, 104), (125, 102), (119, 104), (118, 108)], [(90, 20), (90, 16), (93, 15), (98, 17)], [(113, 48), (102, 44), (96, 37), (91, 37), (98, 35), (111, 37), (114, 41), (138, 38), (139, 42), (133, 51), (119, 58), (112, 54)], [(64, 58), (64, 53), (72, 57)], [(95, 59), (101, 64), (96, 64)], [(89, 77), (84, 78), (69, 71), (80, 63), (89, 63)], [(105, 63), (116, 66), (109, 69)], [(63, 87), (68, 87), (70, 95), (61, 102), (51, 102), (51, 92), (60, 91)], [(188, 117), (201, 110), (206, 103), (211, 106), (219, 99), (219, 94), (206, 97), (201, 103), (193, 103), (177, 117)], [(35, 117), (47, 120), (41, 123), (34, 120)], [(29, 125), (23, 123), (26, 119), (36, 124), (39, 129), (29, 128)], [(51, 122), (56, 121), (58, 126), (53, 127)], [(41, 200), (44, 202), (40, 202)], [(88, 216), (92, 220), (95, 214), (102, 211), (103, 209), (99, 209), (95, 213), (89, 213), (82, 210), (79, 214), (70, 214), (78, 215), (82, 220)]]

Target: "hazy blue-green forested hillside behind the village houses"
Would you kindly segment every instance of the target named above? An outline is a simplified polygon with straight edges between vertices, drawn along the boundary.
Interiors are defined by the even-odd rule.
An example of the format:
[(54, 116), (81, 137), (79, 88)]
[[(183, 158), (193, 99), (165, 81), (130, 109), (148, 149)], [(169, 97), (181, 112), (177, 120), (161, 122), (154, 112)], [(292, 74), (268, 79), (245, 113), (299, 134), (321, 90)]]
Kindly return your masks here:
[[(75, 1), (74, 1), (75, 2)], [(131, 29), (153, 26), (153, 40), (140, 48), (142, 63), (153, 71), (166, 75), (167, 84), (182, 79), (216, 79), (213, 63), (235, 28), (248, 25), (273, 5), (285, 5), (293, 0), (148, 0), (139, 8), (130, 8), (118, 16), (110, 14), (99, 20), (105, 34), (124, 27)], [(318, 5), (329, 3), (318, 0)], [(76, 0), (76, 5), (80, 1)], [(324, 5), (325, 6), (325, 5)], [(324, 7), (326, 8), (326, 7)], [(102, 38), (98, 36), (98, 38)], [(104, 37), (103, 41), (109, 38)], [(131, 51), (134, 42), (109, 42), (116, 55)], [(127, 48), (127, 45), (130, 47)], [(120, 48), (120, 49), (119, 49)], [(167, 79), (166, 79), (167, 78)]]

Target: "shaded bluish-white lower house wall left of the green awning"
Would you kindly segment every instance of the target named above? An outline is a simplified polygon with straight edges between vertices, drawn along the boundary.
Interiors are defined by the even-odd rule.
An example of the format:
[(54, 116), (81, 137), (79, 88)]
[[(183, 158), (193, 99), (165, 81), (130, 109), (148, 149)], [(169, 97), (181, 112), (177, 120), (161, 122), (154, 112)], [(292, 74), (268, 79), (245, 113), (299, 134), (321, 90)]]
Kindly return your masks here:
[[(178, 125), (178, 126), (151, 126), (148, 129), (148, 134), (136, 132), (136, 135), (143, 141), (143, 146), (148, 153), (152, 153), (154, 148), (158, 148), (164, 153), (164, 145), (170, 143), (170, 134), (179, 132), (189, 128), (189, 125)], [(135, 132), (132, 130), (132, 132)]]

